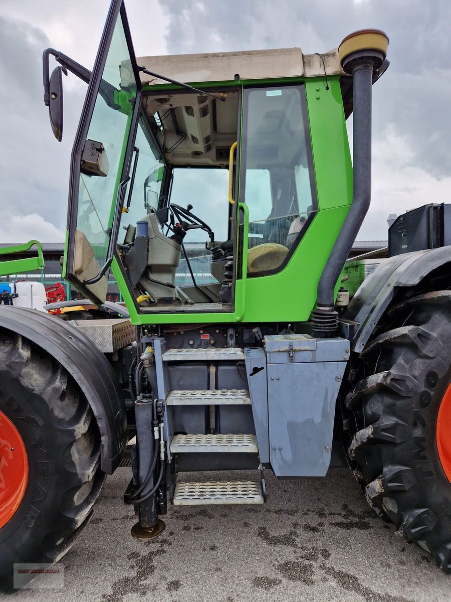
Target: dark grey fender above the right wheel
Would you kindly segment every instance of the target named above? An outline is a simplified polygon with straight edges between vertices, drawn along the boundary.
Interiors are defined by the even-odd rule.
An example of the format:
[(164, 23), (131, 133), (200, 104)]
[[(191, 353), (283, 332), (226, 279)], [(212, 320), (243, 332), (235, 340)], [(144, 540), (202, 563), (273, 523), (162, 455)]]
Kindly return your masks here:
[(441, 265), (451, 263), (451, 246), (395, 255), (361, 284), (343, 318), (358, 323), (352, 350), (360, 353), (400, 287), (413, 287)]

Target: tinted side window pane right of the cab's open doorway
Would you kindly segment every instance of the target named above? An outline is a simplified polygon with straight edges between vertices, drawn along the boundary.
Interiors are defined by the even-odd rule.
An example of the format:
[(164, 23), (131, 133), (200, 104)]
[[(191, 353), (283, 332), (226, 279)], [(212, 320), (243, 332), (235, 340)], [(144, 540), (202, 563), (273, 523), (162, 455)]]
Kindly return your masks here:
[(245, 90), (242, 146), (248, 275), (260, 276), (286, 265), (317, 209), (304, 86)]

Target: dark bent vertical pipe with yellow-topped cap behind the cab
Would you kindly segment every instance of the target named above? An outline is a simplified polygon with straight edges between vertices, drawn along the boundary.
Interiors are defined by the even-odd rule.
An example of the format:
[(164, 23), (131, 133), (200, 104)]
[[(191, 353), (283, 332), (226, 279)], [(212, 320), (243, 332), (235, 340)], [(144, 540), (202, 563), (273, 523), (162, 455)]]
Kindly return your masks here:
[(388, 37), (379, 29), (356, 31), (339, 46), (342, 68), (353, 80), (352, 205), (318, 282), (316, 309), (311, 314), (316, 337), (336, 334), (339, 315), (334, 309), (334, 289), (370, 206), (373, 74), (384, 63), (387, 48)]

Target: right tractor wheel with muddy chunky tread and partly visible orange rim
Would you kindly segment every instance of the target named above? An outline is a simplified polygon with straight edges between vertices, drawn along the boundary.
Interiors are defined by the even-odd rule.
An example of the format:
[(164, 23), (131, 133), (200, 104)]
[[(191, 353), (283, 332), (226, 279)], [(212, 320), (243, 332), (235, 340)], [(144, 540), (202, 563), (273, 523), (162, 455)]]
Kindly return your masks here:
[(451, 293), (387, 318), (343, 402), (348, 461), (376, 513), (451, 573)]

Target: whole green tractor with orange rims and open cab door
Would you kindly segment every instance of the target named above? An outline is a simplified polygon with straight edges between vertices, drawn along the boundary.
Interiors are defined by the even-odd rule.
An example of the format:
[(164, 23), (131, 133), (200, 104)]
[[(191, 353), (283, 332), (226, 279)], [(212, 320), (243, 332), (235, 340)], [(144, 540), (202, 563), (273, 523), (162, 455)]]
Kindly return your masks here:
[[(58, 140), (62, 73), (88, 84), (63, 275), (100, 307), (111, 270), (126, 317), (0, 306), (2, 579), (60, 558), (124, 458), (136, 538), (162, 532), (168, 501), (263, 504), (265, 470), (347, 462), (451, 571), (450, 247), (387, 259), (336, 305), (387, 47), (367, 29), (326, 54), (137, 59), (113, 0), (92, 73), (44, 52)], [(236, 479), (184, 477), (206, 471)]]

